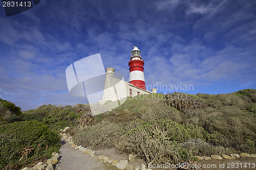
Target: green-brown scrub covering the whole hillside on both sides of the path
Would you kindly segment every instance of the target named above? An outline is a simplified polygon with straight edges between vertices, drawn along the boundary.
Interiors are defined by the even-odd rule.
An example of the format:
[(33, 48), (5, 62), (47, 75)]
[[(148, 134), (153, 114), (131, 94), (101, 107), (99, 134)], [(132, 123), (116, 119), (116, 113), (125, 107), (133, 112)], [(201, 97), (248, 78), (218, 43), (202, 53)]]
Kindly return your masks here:
[[(111, 108), (113, 103), (107, 104)], [(2, 167), (21, 167), (22, 161), (24, 165), (36, 158), (47, 157), (54, 150), (57, 151), (59, 138), (56, 131), (66, 126), (74, 127), (71, 133), (74, 134), (77, 144), (93, 149), (117, 148), (122, 153), (139, 155), (147, 164), (178, 163), (179, 160), (194, 159), (195, 155), (256, 152), (254, 89), (217, 95), (140, 94), (133, 98), (128, 97), (125, 103), (111, 111), (91, 117), (95, 122), (94, 126), (85, 127), (80, 123), (85, 115), (89, 115), (89, 104), (43, 105), (22, 113), (14, 104), (8, 106), (10, 107), (3, 105), (3, 102), (0, 104), (0, 135), (4, 138), (0, 147), (7, 147), (9, 140), (19, 141), (15, 136), (22, 134), (28, 139), (33, 137), (34, 142), (28, 142), (29, 145), (26, 146), (20, 142), (12, 142), (12, 148), (16, 150), (6, 148), (9, 151), (1, 158)], [(15, 107), (16, 109), (11, 109)], [(22, 128), (25, 124), (45, 129), (51, 135), (45, 135), (42, 140), (42, 133), (39, 135), (29, 130), (16, 130), (15, 133), (12, 131), (16, 127)], [(5, 128), (10, 132), (3, 131)], [(12, 137), (7, 140), (5, 135), (11, 133), (13, 135), (9, 136)], [(48, 150), (51, 150), (38, 150), (38, 144), (44, 149), (48, 144)], [(27, 159), (19, 162), (19, 152), (22, 152), (23, 148), (31, 149), (31, 152), (28, 153)], [(15, 159), (10, 161), (10, 158)]]

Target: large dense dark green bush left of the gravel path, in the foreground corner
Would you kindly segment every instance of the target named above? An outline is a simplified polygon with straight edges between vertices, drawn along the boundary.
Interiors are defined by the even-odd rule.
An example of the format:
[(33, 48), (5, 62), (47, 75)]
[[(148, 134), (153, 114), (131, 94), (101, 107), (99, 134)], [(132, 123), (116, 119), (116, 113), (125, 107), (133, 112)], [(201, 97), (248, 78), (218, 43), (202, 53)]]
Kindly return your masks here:
[[(34, 120), (1, 125), (0, 138), (1, 169), (10, 165), (20, 168), (36, 158), (51, 157), (52, 152), (58, 152), (60, 148), (57, 133)], [(31, 153), (19, 161), (24, 148), (31, 149)]]

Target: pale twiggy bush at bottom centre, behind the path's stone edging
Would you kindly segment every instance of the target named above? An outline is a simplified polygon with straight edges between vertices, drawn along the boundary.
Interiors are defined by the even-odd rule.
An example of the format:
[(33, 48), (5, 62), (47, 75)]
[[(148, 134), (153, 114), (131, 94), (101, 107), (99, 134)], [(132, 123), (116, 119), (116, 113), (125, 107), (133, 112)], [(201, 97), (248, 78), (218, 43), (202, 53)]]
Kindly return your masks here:
[(174, 141), (150, 138), (143, 130), (131, 131), (121, 136), (116, 147), (121, 152), (138, 154), (147, 165), (177, 163), (179, 145)]

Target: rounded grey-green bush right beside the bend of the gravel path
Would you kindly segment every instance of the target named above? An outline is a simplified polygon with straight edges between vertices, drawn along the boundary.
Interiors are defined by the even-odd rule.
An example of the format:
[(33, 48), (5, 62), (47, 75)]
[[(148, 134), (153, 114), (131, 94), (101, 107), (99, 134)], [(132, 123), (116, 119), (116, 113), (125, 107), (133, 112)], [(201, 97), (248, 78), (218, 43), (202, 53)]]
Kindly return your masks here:
[(122, 135), (122, 128), (114, 123), (101, 122), (96, 126), (85, 127), (74, 135), (74, 141), (84, 147), (112, 148)]

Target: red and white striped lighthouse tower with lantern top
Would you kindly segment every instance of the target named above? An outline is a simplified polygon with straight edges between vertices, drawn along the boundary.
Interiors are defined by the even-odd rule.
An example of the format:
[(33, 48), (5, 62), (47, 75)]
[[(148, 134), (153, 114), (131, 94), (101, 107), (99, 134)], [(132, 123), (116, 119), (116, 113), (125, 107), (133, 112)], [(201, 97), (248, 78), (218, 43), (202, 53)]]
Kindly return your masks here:
[(133, 51), (131, 59), (129, 61), (129, 70), (130, 70), (130, 77), (129, 83), (133, 84), (136, 87), (139, 87), (143, 90), (146, 89), (145, 87), (145, 79), (144, 79), (144, 61), (140, 56), (140, 50), (137, 46), (133, 46)]

